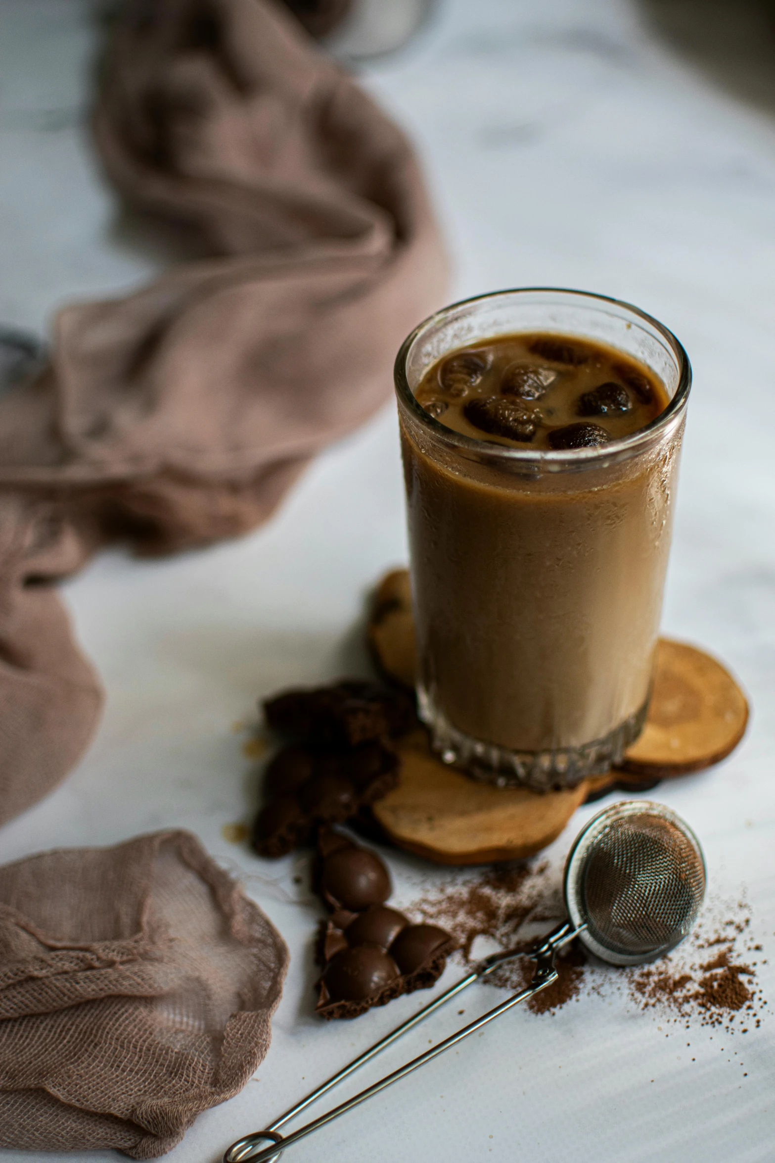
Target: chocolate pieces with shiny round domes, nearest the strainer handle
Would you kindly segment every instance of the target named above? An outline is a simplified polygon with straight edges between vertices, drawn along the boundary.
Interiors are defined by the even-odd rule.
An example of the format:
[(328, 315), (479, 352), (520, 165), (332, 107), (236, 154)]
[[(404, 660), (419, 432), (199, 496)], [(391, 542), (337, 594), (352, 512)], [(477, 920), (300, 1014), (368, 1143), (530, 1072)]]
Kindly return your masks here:
[(390, 877), (376, 852), (321, 829), (315, 882), (332, 909), (316, 948), (323, 970), (315, 1007), (321, 1018), (357, 1018), (432, 985), (443, 973), (453, 937), (435, 925), (412, 925), (385, 904)]

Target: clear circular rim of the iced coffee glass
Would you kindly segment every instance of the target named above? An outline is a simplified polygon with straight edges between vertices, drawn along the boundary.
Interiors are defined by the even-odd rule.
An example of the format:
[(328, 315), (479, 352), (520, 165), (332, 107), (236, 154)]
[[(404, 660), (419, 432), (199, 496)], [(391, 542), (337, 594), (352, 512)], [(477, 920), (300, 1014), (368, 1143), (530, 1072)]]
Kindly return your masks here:
[[(545, 449), (531, 448), (530, 445), (526, 445), (525, 448), (512, 448), (510, 444), (498, 444), (495, 441), (479, 440), (475, 436), (466, 436), (464, 433), (455, 431), (453, 428), (447, 428), (446, 424), (443, 424), (439, 420), (432, 416), (430, 412), (426, 412), (425, 408), (423, 408), (423, 406), (417, 401), (407, 378), (407, 358), (415, 340), (419, 336), (419, 334), (437, 320), (443, 320), (446, 315), (450, 315), (453, 311), (457, 311), (460, 307), (466, 307), (469, 304), (475, 302), (485, 302), (488, 299), (500, 299), (508, 295), (517, 297), (524, 294), (577, 295), (579, 299), (590, 299), (601, 304), (611, 304), (615, 307), (630, 312), (632, 315), (641, 319), (644, 322), (648, 323), (650, 327), (654, 328), (661, 338), (666, 341), (669, 350), (675, 357), (679, 369), (679, 384), (665, 411), (660, 412), (660, 414), (644, 428), (638, 428), (637, 431), (630, 433), (626, 436), (615, 437), (605, 444), (596, 444), (593, 448), (574, 449)], [(579, 335), (579, 338), (584, 338), (584, 336)], [(611, 458), (618, 461), (623, 457), (634, 455), (641, 448), (651, 444), (652, 440), (658, 436), (663, 428), (668, 427), (670, 421), (675, 420), (681, 414), (681, 412), (686, 408), (689, 391), (691, 388), (691, 364), (689, 363), (689, 356), (687, 355), (683, 344), (676, 338), (668, 327), (665, 327), (665, 324), (660, 323), (660, 321), (654, 319), (653, 315), (650, 315), (647, 312), (633, 306), (631, 302), (626, 302), (624, 299), (615, 299), (611, 295), (596, 294), (594, 291), (577, 291), (571, 287), (504, 287), (501, 291), (487, 291), (485, 294), (471, 295), (468, 299), (459, 299), (457, 302), (449, 304), (446, 307), (442, 307), (432, 315), (429, 315), (409, 333), (399, 348), (393, 372), (399, 400), (409, 408), (414, 416), (425, 428), (428, 428), (436, 437), (444, 441), (446, 444), (454, 445), (461, 451), (473, 452), (478, 459), (482, 459), (483, 457), (485, 459), (491, 458), (494, 461), (505, 461), (515, 464), (540, 463), (546, 465), (546, 468), (554, 468), (558, 470), (564, 468), (580, 469), (582, 466), (596, 465), (601, 462), (610, 461)]]

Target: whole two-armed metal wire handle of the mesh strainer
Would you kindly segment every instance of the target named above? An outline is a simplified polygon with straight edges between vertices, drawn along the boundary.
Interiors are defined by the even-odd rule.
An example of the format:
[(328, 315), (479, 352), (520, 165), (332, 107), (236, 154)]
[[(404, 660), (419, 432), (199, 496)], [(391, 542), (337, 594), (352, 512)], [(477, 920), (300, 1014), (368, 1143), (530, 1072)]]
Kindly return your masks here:
[[(371, 1098), (372, 1094), (376, 1094), (380, 1090), (383, 1090), (386, 1086), (389, 1086), (390, 1083), (397, 1082), (399, 1078), (402, 1078), (404, 1075), (409, 1073), (411, 1070), (415, 1070), (417, 1066), (423, 1065), (424, 1062), (430, 1061), (430, 1058), (432, 1057), (436, 1057), (437, 1054), (442, 1054), (443, 1050), (447, 1049), (450, 1046), (455, 1044), (455, 1042), (459, 1042), (461, 1039), (466, 1037), (475, 1029), (480, 1029), (481, 1026), (486, 1025), (493, 1018), (498, 1016), (498, 1014), (504, 1013), (507, 1009), (510, 1009), (511, 1006), (515, 1006), (517, 1005), (517, 1003), (531, 998), (534, 993), (537, 993), (539, 990), (543, 990), (546, 985), (551, 985), (552, 982), (557, 980), (557, 972), (553, 965), (554, 952), (561, 946), (566, 944), (567, 941), (574, 937), (577, 932), (579, 930), (574, 929), (569, 921), (564, 921), (561, 925), (558, 925), (558, 927), (553, 929), (550, 934), (547, 934), (547, 936), (544, 937), (541, 942), (529, 952), (524, 949), (509, 949), (505, 952), (494, 954), (493, 956), (487, 957), (483, 962), (481, 962), (481, 964), (475, 970), (473, 970), (466, 977), (457, 982), (453, 986), (451, 986), (451, 989), (439, 994), (438, 998), (435, 998), (433, 1001), (426, 1005), (423, 1009), (419, 1009), (407, 1021), (402, 1022), (400, 1026), (396, 1026), (395, 1029), (390, 1030), (389, 1034), (386, 1034), (383, 1039), (381, 1039), (379, 1042), (375, 1042), (374, 1046), (371, 1046), (357, 1058), (353, 1058), (352, 1062), (347, 1063), (346, 1066), (343, 1066), (343, 1069), (339, 1070), (336, 1075), (332, 1075), (318, 1087), (316, 1087), (316, 1090), (311, 1091), (309, 1094), (306, 1096), (306, 1098), (301, 1099), (300, 1103), (296, 1103), (295, 1106), (290, 1107), (288, 1111), (285, 1112), (285, 1114), (280, 1115), (279, 1119), (275, 1119), (275, 1121), (272, 1122), (265, 1130), (259, 1130), (254, 1132), (251, 1135), (245, 1135), (243, 1139), (239, 1139), (237, 1140), (237, 1142), (232, 1143), (231, 1147), (227, 1149), (223, 1156), (223, 1163), (243, 1163), (243, 1161), (247, 1160), (251, 1160), (252, 1163), (261, 1163), (261, 1161), (279, 1158), (280, 1151), (274, 1150), (274, 1147), (278, 1146), (279, 1143), (282, 1143), (282, 1148), (285, 1148), (286, 1146), (290, 1146), (292, 1143), (296, 1142), (299, 1139), (302, 1139), (304, 1135), (311, 1134), (313, 1130), (316, 1130), (318, 1127), (325, 1126), (325, 1123), (330, 1122), (339, 1114), (344, 1114), (345, 1111), (349, 1111), (351, 1110), (351, 1107), (357, 1106), (358, 1103), (361, 1103), (365, 1099)], [(432, 1050), (428, 1050), (418, 1058), (415, 1058), (412, 1059), (412, 1062), (407, 1063), (404, 1066), (401, 1068), (401, 1070), (395, 1071), (393, 1075), (388, 1075), (386, 1078), (382, 1078), (379, 1083), (375, 1083), (367, 1090), (361, 1091), (359, 1094), (356, 1094), (347, 1103), (343, 1103), (340, 1106), (335, 1107), (332, 1111), (329, 1111), (325, 1115), (321, 1115), (320, 1119), (316, 1119), (313, 1122), (308, 1123), (306, 1127), (302, 1127), (293, 1135), (288, 1135), (287, 1137), (284, 1139), (282, 1135), (277, 1134), (279, 1127), (284, 1126), (284, 1123), (288, 1122), (296, 1114), (300, 1114), (311, 1103), (314, 1103), (316, 1099), (325, 1094), (329, 1090), (331, 1090), (331, 1087), (336, 1086), (337, 1083), (347, 1078), (351, 1073), (353, 1073), (353, 1071), (358, 1070), (359, 1066), (363, 1066), (366, 1062), (368, 1062), (376, 1054), (379, 1054), (380, 1050), (386, 1049), (386, 1047), (390, 1046), (402, 1034), (406, 1034), (407, 1030), (411, 1029), (418, 1022), (423, 1021), (431, 1013), (433, 1013), (436, 1009), (443, 1006), (446, 1001), (450, 1001), (453, 997), (457, 997), (458, 993), (462, 992), (462, 990), (467, 989), (474, 982), (480, 980), (480, 978), (482, 977), (487, 977), (488, 973), (491, 973), (495, 969), (498, 968), (498, 965), (503, 964), (503, 962), (510, 961), (514, 957), (518, 957), (525, 954), (537, 961), (533, 980), (531, 982), (531, 985), (526, 990), (523, 990), (521, 993), (516, 994), (514, 998), (510, 998), (508, 1001), (502, 1003), (501, 1006), (497, 1006), (495, 1009), (491, 1009), (489, 1013), (478, 1019), (478, 1021), (473, 1022), (471, 1026), (464, 1027), (464, 1029), (461, 1029), (458, 1034), (453, 1035), (451, 1039), (447, 1039), (445, 1042), (440, 1042)], [(548, 973), (546, 973), (546, 963), (548, 963)], [(541, 970), (543, 970), (543, 976), (541, 976)], [(264, 1141), (270, 1140), (272, 1141), (273, 1146), (265, 1149), (260, 1154), (256, 1155), (254, 1154), (256, 1147), (261, 1140)]]

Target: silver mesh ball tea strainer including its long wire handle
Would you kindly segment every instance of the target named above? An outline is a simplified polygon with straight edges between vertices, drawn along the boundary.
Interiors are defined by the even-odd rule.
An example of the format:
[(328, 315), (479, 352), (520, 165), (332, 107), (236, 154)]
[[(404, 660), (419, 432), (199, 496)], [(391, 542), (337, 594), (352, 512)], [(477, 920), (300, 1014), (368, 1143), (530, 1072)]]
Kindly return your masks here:
[(590, 952), (613, 965), (638, 965), (674, 949), (690, 933), (705, 894), (702, 848), (691, 828), (662, 804), (644, 800), (613, 804), (593, 816), (576, 836), (565, 865), (564, 894), (568, 920), (558, 925), (526, 954), (536, 962), (528, 989), (293, 1134), (279, 1134), (279, 1128), (310, 1103), (444, 1003), (487, 977), (504, 961), (525, 956), (525, 951), (510, 949), (486, 958), (467, 977), (365, 1050), (265, 1130), (257, 1130), (232, 1143), (223, 1156), (223, 1163), (245, 1163), (247, 1160), (272, 1163), (279, 1160), (287, 1147), (457, 1046), (519, 1001), (532, 998), (557, 980), (554, 955), (575, 936)]

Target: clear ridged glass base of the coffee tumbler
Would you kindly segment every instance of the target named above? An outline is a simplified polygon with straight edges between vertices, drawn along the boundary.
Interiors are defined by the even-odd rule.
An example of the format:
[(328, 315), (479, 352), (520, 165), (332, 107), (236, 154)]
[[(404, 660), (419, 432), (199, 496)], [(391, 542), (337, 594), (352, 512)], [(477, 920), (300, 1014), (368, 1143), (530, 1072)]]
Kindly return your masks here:
[(464, 768), (473, 779), (496, 787), (531, 787), (548, 792), (575, 787), (587, 776), (602, 776), (620, 763), (624, 752), (640, 735), (646, 721), (648, 699), (639, 711), (615, 727), (603, 739), (582, 747), (558, 748), (553, 751), (511, 751), (497, 743), (464, 735), (433, 704), (418, 684), (419, 718), (430, 729), (431, 745), (444, 763)]

